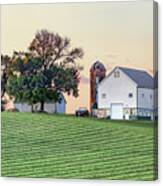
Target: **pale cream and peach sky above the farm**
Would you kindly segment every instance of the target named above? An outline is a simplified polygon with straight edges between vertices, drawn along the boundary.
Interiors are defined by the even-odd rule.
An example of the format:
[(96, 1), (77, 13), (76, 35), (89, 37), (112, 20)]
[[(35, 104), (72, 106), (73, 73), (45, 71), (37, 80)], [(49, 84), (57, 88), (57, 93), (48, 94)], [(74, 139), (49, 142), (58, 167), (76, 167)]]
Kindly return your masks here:
[(107, 74), (115, 66), (153, 70), (153, 2), (55, 3), (3, 5), (1, 51), (27, 50), (38, 30), (47, 29), (71, 38), (72, 47), (82, 47), (78, 60), (80, 96), (66, 96), (67, 113), (89, 108), (89, 69), (101, 61)]

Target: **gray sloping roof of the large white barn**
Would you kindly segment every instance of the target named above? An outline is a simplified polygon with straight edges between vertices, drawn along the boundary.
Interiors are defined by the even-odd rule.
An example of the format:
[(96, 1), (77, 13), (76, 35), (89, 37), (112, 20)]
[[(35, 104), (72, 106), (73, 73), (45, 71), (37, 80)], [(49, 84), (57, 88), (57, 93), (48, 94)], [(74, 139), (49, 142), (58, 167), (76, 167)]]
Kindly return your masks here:
[(127, 74), (140, 88), (154, 88), (154, 79), (144, 70), (119, 67)]

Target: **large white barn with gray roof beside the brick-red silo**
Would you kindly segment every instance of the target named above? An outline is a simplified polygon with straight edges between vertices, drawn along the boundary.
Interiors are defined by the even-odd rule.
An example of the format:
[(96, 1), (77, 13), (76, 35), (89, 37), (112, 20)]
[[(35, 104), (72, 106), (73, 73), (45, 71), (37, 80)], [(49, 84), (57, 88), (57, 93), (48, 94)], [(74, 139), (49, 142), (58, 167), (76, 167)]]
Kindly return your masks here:
[(154, 119), (154, 80), (146, 71), (116, 67), (97, 88), (97, 112), (111, 119)]

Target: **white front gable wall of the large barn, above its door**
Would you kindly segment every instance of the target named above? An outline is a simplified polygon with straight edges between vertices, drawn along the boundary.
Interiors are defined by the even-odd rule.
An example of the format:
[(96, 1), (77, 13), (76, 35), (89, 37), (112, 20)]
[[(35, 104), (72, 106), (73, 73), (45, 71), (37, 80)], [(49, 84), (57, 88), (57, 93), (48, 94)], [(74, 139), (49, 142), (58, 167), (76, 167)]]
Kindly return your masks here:
[[(114, 72), (119, 71), (120, 77), (114, 77)], [(113, 103), (122, 103), (123, 107), (137, 107), (137, 85), (123, 71), (115, 69), (106, 77), (98, 87), (98, 108), (107, 109)], [(133, 96), (130, 98), (129, 93)], [(103, 94), (106, 97), (103, 97)]]

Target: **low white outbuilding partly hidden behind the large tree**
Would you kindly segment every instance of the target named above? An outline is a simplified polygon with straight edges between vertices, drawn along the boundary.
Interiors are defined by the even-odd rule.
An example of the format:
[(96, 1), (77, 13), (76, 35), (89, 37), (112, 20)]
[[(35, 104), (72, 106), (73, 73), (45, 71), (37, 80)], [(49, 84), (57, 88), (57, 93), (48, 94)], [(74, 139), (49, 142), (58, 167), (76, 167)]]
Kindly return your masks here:
[[(32, 107), (28, 103), (16, 102), (14, 107), (19, 110), (19, 112), (32, 112)], [(40, 110), (40, 103), (34, 104), (34, 111)], [(65, 113), (66, 112), (66, 100), (62, 95), (61, 102), (45, 102), (44, 111), (47, 113)]]

